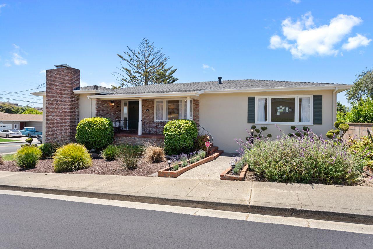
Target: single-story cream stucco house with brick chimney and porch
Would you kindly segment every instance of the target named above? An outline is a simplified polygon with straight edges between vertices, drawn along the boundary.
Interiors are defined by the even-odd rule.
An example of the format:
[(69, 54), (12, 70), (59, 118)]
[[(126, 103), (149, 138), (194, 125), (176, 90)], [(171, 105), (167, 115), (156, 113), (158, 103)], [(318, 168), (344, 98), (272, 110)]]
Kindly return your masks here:
[[(351, 85), (265, 80), (229, 80), (145, 85), (120, 89), (80, 87), (80, 70), (56, 65), (47, 70), (43, 96), (46, 136), (43, 141), (73, 141), (76, 125), (87, 117), (107, 117), (115, 126), (115, 141), (142, 144), (162, 142), (168, 120), (192, 119), (214, 144), (236, 152), (235, 138), (246, 129), (266, 126), (273, 138), (310, 127), (325, 134), (336, 120), (336, 94)], [(56, 133), (55, 130), (59, 132)]]

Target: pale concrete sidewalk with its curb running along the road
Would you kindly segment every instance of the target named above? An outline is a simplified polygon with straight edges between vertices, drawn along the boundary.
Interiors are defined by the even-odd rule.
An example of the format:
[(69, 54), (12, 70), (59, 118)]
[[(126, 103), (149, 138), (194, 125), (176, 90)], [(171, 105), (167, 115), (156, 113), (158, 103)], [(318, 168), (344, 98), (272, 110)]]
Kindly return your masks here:
[(0, 189), (373, 224), (373, 187), (0, 171)]

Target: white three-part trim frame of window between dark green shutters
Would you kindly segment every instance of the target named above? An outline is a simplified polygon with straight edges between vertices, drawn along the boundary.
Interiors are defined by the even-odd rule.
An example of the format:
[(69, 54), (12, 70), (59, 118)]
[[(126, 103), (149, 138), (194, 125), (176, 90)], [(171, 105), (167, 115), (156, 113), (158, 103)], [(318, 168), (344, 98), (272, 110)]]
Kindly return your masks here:
[[(310, 122), (299, 122), (299, 98), (310, 98)], [(258, 98), (267, 98), (267, 121), (258, 122)], [(271, 122), (271, 98), (295, 98), (295, 122)], [(255, 124), (313, 124), (313, 95), (275, 95), (275, 96), (256, 96), (255, 97)]]

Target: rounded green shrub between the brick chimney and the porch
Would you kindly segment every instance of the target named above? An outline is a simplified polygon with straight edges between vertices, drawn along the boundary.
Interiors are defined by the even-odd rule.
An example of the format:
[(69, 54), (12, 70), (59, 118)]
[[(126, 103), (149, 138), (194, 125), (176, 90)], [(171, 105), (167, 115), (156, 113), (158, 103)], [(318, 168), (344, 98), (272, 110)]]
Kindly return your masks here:
[(113, 122), (104, 117), (82, 119), (76, 127), (76, 142), (100, 151), (113, 143)]

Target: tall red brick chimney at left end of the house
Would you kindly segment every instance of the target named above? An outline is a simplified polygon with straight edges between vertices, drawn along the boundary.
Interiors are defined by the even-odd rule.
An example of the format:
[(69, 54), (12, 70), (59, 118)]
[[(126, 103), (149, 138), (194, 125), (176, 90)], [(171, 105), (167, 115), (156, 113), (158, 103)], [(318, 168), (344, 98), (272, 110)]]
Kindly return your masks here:
[(80, 87), (80, 70), (67, 64), (54, 66), (47, 70), (45, 142), (72, 142), (79, 122), (79, 95), (73, 89)]

